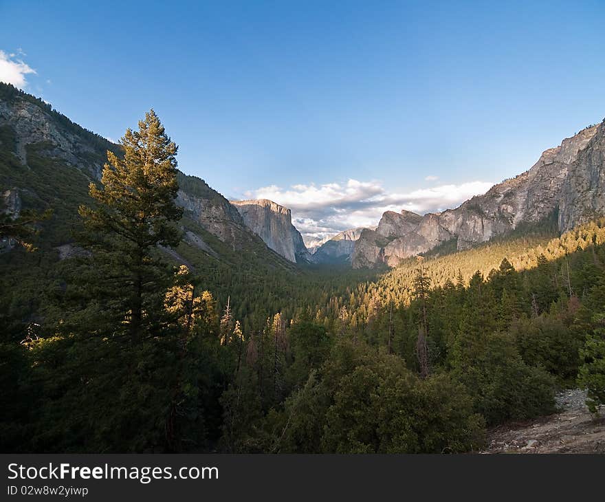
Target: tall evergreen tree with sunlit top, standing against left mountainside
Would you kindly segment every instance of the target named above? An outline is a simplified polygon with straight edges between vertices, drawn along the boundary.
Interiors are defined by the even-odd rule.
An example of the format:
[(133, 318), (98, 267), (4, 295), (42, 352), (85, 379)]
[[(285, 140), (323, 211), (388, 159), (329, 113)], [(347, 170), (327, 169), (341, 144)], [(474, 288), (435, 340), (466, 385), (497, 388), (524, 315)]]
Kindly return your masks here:
[(124, 157), (108, 151), (101, 187), (91, 183), (94, 206), (80, 206), (94, 252), (100, 281), (119, 292), (118, 312), (128, 325), (131, 340), (140, 340), (149, 293), (165, 275), (153, 255), (157, 245), (177, 245), (175, 226), (182, 209), (177, 195), (177, 146), (168, 138), (153, 111), (139, 122), (139, 130), (126, 130), (121, 140)]

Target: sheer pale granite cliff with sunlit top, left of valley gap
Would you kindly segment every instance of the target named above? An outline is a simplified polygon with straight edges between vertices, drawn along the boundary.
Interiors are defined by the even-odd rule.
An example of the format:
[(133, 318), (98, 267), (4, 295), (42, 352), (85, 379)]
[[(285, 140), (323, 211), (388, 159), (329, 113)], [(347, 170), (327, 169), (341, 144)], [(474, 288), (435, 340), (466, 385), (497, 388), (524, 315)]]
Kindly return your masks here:
[(267, 247), (294, 263), (310, 261), (303, 237), (292, 225), (288, 208), (267, 199), (231, 201), (245, 226), (261, 237)]

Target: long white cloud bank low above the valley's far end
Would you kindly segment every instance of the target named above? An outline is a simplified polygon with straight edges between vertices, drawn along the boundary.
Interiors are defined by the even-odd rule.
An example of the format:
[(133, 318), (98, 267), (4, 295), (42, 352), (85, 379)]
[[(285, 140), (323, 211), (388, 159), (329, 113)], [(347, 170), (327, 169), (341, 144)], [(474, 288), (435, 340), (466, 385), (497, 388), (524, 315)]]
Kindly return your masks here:
[(475, 181), (388, 193), (381, 182), (349, 179), (344, 184), (296, 184), (288, 189), (265, 186), (246, 192), (245, 197), (270, 199), (290, 208), (294, 226), (311, 243), (349, 228), (375, 226), (388, 210), (424, 214), (455, 208), (492, 185)]

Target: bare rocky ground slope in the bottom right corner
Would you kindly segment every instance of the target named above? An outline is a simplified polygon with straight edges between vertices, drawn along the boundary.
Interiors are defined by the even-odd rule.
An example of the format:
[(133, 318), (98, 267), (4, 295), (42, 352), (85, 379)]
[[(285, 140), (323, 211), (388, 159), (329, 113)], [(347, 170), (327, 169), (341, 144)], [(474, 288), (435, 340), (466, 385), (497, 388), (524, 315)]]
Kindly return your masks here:
[(595, 419), (584, 400), (584, 391), (562, 391), (559, 413), (490, 430), (483, 453), (605, 453), (605, 412)]

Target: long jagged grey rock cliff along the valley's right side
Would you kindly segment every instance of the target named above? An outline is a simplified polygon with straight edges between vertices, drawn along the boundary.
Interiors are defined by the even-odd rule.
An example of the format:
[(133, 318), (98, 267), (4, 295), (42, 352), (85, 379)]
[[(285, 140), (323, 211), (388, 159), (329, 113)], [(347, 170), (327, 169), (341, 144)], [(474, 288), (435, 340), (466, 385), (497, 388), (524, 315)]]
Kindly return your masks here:
[(397, 265), (401, 259), (457, 239), (458, 249), (488, 241), (519, 223), (559, 212), (564, 232), (605, 212), (605, 121), (544, 151), (528, 171), (455, 209), (424, 216), (385, 212), (375, 232), (355, 243), (353, 267)]

